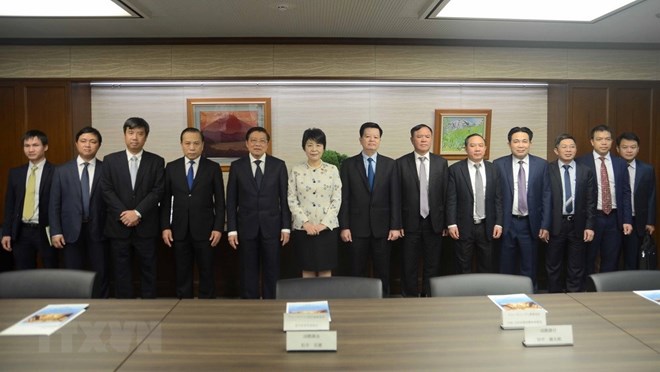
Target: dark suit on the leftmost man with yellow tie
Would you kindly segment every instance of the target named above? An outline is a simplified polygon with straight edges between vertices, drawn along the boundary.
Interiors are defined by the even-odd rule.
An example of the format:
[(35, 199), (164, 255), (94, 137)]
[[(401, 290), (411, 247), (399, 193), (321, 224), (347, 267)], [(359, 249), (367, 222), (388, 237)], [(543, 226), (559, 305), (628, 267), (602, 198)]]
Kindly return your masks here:
[(37, 253), (41, 256), (45, 268), (56, 268), (58, 252), (50, 246), (46, 235), (50, 185), (55, 167), (48, 161), (43, 166), (39, 184), (39, 223), (35, 225), (23, 223), (23, 203), (29, 167), (30, 163), (9, 170), (2, 235), (11, 237), (14, 267), (17, 270), (36, 268)]

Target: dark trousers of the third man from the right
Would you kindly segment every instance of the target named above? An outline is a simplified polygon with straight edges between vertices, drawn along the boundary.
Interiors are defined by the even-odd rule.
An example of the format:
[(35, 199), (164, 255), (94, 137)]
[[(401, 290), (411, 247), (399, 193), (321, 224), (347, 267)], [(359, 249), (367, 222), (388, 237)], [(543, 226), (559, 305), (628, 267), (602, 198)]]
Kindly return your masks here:
[(545, 268), (548, 272), (548, 292), (564, 291), (561, 282), (562, 263), (566, 257), (566, 290), (584, 291), (584, 270), (587, 258), (587, 243), (584, 231), (575, 230), (575, 222), (564, 218), (558, 234), (550, 236), (546, 252)]

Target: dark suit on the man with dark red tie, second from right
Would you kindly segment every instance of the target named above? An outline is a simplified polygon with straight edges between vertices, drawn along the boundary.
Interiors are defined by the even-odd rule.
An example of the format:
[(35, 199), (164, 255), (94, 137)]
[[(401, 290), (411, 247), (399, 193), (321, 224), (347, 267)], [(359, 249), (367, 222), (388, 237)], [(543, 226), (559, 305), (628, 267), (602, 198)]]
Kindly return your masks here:
[[(612, 199), (616, 198), (616, 210), (606, 215), (602, 210), (596, 213), (596, 226), (594, 240), (587, 248), (587, 270), (585, 275), (596, 272), (596, 257), (600, 253), (600, 271), (614, 271), (619, 266), (619, 252), (621, 250), (623, 224), (632, 224), (632, 206), (630, 198), (630, 176), (628, 175), (628, 163), (610, 153), (614, 175), (608, 173), (611, 180), (614, 177), (615, 192)], [(600, 160), (594, 159), (594, 153), (590, 152), (577, 159), (576, 162), (584, 164), (594, 172), (594, 186), (597, 197), (602, 198), (598, 188), (598, 174), (600, 173)], [(598, 164), (596, 164), (598, 163)], [(598, 200), (598, 199), (596, 199)]]

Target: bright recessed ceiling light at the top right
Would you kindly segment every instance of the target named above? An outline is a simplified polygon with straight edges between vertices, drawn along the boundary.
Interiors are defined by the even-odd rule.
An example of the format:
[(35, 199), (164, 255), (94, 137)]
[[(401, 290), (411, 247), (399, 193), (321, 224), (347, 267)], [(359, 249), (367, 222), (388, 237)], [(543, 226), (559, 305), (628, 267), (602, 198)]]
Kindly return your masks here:
[(440, 0), (428, 18), (594, 22), (644, 0)]

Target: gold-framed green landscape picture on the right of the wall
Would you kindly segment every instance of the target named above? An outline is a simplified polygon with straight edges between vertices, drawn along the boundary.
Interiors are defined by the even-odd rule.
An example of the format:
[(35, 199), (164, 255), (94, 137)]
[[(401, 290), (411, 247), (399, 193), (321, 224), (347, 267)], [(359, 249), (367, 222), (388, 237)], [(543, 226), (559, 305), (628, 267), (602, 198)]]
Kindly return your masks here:
[(490, 153), (490, 109), (437, 109), (435, 110), (434, 152), (447, 160), (462, 160), (465, 153), (465, 138), (478, 133), (486, 140), (486, 154)]

